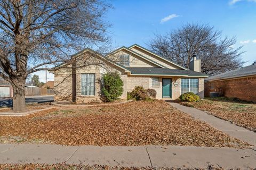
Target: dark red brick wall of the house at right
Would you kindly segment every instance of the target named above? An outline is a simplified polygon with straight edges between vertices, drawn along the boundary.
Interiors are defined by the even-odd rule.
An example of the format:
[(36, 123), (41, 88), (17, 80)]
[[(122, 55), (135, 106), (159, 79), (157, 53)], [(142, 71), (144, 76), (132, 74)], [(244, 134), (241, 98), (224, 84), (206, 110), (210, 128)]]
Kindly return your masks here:
[(236, 97), (247, 101), (256, 101), (256, 76), (205, 82), (205, 96), (210, 92), (221, 92), (226, 97)]

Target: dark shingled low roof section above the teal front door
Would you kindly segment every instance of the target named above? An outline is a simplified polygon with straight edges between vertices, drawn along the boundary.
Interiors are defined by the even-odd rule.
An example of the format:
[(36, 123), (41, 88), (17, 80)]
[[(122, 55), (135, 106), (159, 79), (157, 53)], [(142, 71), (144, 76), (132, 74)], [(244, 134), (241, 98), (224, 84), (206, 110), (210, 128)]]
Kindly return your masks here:
[(192, 70), (167, 69), (159, 67), (130, 67), (132, 75), (169, 75), (181, 77), (208, 77), (205, 73)]

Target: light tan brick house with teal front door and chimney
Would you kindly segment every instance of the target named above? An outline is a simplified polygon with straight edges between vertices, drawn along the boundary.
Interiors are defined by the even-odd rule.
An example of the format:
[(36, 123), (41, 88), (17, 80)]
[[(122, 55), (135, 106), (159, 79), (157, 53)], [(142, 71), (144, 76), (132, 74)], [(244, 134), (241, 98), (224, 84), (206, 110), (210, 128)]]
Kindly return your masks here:
[[(201, 62), (196, 57), (190, 63), (192, 71), (135, 44), (118, 48), (106, 56), (86, 48), (75, 54), (73, 60), (76, 62), (62, 64), (61, 69), (54, 72), (55, 100), (73, 98), (77, 103), (100, 100), (98, 80), (111, 71), (118, 72), (124, 82), (120, 97), (123, 100), (135, 86), (155, 89), (157, 99), (177, 99), (188, 91), (204, 97), (204, 78), (208, 76), (200, 72)], [(70, 69), (71, 65), (76, 69)]]

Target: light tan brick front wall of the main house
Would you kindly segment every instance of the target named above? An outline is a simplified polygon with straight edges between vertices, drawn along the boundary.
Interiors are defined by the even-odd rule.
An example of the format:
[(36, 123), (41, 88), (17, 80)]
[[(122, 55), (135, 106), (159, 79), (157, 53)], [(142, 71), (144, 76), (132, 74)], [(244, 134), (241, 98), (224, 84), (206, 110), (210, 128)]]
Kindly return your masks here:
[[(86, 55), (81, 56), (77, 58), (77, 66), (80, 66), (84, 64), (83, 62), (86, 61), (86, 63), (92, 63), (91, 65), (87, 65), (85, 67), (78, 67), (76, 70), (76, 96), (77, 96), (77, 103), (88, 103), (92, 100), (100, 100), (100, 84), (99, 79), (101, 78), (103, 73), (106, 73), (107, 71), (117, 71), (121, 75), (121, 79), (124, 82), (123, 86), (123, 94), (121, 99), (126, 100), (127, 98), (127, 92), (131, 92), (135, 86), (142, 86), (145, 89), (155, 89), (157, 92), (156, 99), (162, 99), (162, 79), (163, 77), (158, 77), (159, 79), (159, 86), (153, 87), (152, 86), (152, 78), (154, 76), (132, 76), (127, 75), (123, 72), (122, 69), (119, 67), (115, 67), (113, 65), (110, 66), (99, 66), (97, 64), (98, 59), (97, 58), (87, 58), (85, 60)], [(55, 72), (54, 74), (54, 91), (55, 91), (55, 100), (68, 100), (71, 101), (72, 99), (72, 71), (71, 69), (60, 69)], [(83, 96), (81, 95), (81, 74), (82, 73), (94, 73), (95, 74), (95, 96)], [(178, 77), (164, 77), (164, 78), (170, 78), (172, 79), (172, 99), (177, 99), (180, 96), (180, 87), (181, 87), (181, 79)], [(177, 86), (174, 86), (174, 83), (177, 84)], [(203, 98), (204, 96), (204, 79), (199, 79), (199, 93), (198, 95)]]

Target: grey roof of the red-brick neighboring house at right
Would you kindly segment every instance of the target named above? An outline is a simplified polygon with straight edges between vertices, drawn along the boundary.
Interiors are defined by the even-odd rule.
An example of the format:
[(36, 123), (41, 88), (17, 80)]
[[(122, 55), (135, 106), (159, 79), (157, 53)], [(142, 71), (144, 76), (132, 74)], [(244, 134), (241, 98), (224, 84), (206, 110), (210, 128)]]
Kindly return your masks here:
[(234, 79), (256, 75), (256, 65), (249, 65), (246, 67), (242, 67), (236, 70), (231, 70), (225, 73), (213, 75), (209, 78), (205, 79), (207, 81), (215, 81), (215, 80), (224, 80), (224, 79)]

